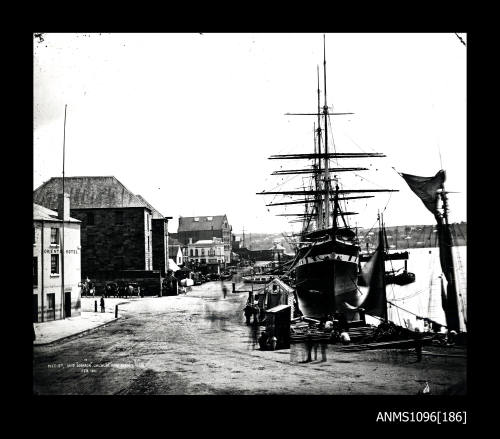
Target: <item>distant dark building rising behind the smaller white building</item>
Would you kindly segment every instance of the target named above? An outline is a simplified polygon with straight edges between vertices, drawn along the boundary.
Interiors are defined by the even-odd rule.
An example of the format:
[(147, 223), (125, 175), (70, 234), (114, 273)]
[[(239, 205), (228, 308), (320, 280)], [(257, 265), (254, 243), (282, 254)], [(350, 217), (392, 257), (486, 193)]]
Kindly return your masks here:
[(225, 262), (231, 262), (232, 227), (226, 215), (180, 217), (176, 238), (183, 246), (200, 240), (220, 238), (224, 245)]

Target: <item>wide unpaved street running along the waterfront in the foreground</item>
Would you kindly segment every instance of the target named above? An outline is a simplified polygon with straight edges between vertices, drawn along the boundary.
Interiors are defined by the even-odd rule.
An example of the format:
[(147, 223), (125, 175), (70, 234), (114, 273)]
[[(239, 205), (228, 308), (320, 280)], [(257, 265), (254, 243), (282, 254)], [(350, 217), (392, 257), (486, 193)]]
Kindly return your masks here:
[[(35, 394), (434, 394), (465, 379), (465, 359), (395, 350), (339, 352), (305, 362), (303, 345), (260, 351), (245, 324), (247, 293), (220, 282), (120, 305), (120, 318), (83, 337), (33, 350)], [(249, 284), (237, 284), (250, 289)], [(82, 299), (82, 308), (93, 306)], [(314, 352), (313, 352), (314, 354)]]

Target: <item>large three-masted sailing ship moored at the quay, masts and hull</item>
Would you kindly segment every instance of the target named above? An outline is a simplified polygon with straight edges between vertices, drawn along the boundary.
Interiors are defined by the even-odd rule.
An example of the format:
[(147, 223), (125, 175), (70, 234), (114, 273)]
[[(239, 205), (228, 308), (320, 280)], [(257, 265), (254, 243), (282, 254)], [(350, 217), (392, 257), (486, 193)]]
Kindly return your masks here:
[[(356, 308), (363, 295), (358, 282), (360, 246), (357, 230), (349, 224), (348, 200), (372, 198), (372, 192), (395, 192), (392, 189), (346, 188), (341, 175), (366, 171), (366, 167), (344, 166), (349, 159), (385, 157), (376, 152), (337, 152), (331, 132), (331, 117), (353, 113), (337, 113), (328, 106), (326, 45), (323, 37), (323, 105), (321, 105), (320, 72), (317, 67), (317, 110), (310, 113), (286, 115), (314, 118), (314, 149), (301, 154), (280, 154), (271, 160), (308, 161), (300, 169), (275, 171), (272, 175), (302, 175), (309, 178), (302, 190), (264, 191), (258, 195), (297, 197), (293, 201), (267, 204), (267, 206), (303, 205), (301, 213), (286, 213), (302, 223), (298, 235), (296, 255), (290, 270), (295, 273), (294, 287), (298, 307), (307, 317), (324, 318), (335, 312), (343, 313), (347, 320), (358, 319)], [(335, 161), (335, 164), (332, 162)]]

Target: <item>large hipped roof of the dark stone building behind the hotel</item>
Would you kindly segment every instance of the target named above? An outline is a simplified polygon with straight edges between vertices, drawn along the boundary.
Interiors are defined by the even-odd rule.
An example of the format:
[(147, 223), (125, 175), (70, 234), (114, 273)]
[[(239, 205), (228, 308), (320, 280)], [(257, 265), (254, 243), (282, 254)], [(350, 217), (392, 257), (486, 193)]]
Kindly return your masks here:
[[(141, 199), (115, 177), (65, 177), (64, 191), (70, 194), (72, 209), (145, 207)], [(62, 178), (52, 177), (33, 192), (33, 202), (57, 209)]]

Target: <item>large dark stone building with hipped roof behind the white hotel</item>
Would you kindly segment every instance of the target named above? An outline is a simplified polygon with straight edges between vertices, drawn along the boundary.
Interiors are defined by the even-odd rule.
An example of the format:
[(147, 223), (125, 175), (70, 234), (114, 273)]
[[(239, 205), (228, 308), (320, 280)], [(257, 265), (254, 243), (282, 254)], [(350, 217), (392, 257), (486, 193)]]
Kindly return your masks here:
[[(57, 208), (62, 178), (53, 177), (33, 201)], [(115, 177), (66, 177), (71, 216), (81, 221), (82, 277), (113, 270), (153, 270), (152, 211)]]

